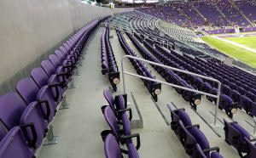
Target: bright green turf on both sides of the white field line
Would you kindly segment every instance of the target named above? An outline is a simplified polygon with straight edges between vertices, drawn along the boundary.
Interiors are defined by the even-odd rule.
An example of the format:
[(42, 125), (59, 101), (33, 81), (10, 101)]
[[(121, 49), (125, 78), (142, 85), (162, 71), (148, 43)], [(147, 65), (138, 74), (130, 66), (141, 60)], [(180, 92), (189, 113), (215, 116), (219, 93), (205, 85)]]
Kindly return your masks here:
[[(232, 39), (234, 38), (234, 39)], [(256, 48), (256, 46), (253, 46), (253, 42), (255, 42), (256, 37), (232, 37), (232, 38), (227, 38), (230, 41), (233, 42), (238, 42), (241, 44), (244, 44), (247, 47), (250, 48)], [(239, 38), (239, 39), (237, 39)], [(245, 39), (243, 39), (245, 38)], [(205, 42), (207, 42), (210, 46), (212, 46), (212, 48), (216, 48), (218, 51), (229, 55), (230, 57), (234, 58), (234, 59), (239, 59), (241, 60), (243, 63), (246, 63), (247, 65), (250, 65), (254, 68), (256, 68), (256, 54), (250, 51), (245, 50), (244, 48), (240, 48), (237, 47), (233, 44), (224, 42), (224, 41), (220, 41), (214, 37), (202, 37), (202, 40), (204, 40)]]

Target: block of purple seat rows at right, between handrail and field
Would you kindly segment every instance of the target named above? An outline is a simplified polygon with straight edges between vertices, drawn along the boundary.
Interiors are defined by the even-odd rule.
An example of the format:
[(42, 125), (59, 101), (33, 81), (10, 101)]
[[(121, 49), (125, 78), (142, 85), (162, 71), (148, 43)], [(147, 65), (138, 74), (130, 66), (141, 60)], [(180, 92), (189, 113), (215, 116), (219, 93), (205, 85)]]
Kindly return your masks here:
[[(134, 42), (134, 40), (131, 41)], [(236, 113), (237, 106), (246, 110), (247, 114), (252, 116), (255, 115), (255, 76), (249, 75), (244, 71), (241, 72), (241, 70), (237, 71), (237, 68), (221, 64), (217, 59), (208, 59), (206, 61), (204, 59), (192, 58), (186, 54), (177, 54), (175, 51), (171, 51), (170, 53), (165, 48), (161, 48), (157, 44), (154, 44), (154, 48), (154, 42), (149, 39), (144, 40), (143, 43), (151, 54), (165, 65), (198, 73), (203, 76), (211, 76), (222, 82), (219, 108), (224, 109), (228, 116), (232, 117), (232, 112)], [(139, 44), (135, 42), (135, 45)], [(139, 49), (141, 49), (141, 52), (144, 52), (141, 46)], [(144, 58), (150, 59), (148, 57)], [(166, 77), (165, 73), (160, 72), (163, 77)], [(181, 76), (183, 80), (188, 82), (195, 89), (212, 94), (218, 93), (218, 85), (215, 82), (205, 81), (198, 77), (186, 76), (178, 73), (177, 75)], [(207, 99), (216, 102), (216, 99), (212, 99), (211, 97), (207, 97)]]

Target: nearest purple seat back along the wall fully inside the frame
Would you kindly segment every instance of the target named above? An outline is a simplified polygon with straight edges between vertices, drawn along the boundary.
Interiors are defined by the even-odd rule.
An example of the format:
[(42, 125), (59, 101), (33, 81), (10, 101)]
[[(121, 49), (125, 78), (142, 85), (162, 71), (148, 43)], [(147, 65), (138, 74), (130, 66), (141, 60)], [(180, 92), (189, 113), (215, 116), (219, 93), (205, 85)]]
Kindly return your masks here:
[(16, 91), (26, 104), (30, 104), (37, 99), (39, 87), (31, 77), (27, 77), (17, 82)]

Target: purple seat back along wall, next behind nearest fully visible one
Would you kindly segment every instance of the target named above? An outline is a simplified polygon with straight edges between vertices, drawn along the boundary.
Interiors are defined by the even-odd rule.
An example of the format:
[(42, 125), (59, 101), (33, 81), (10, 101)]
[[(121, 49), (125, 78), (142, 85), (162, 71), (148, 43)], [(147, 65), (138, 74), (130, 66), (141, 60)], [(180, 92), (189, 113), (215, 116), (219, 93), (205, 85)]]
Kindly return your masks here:
[(39, 88), (47, 85), (49, 80), (49, 76), (42, 67), (34, 68), (31, 71), (30, 76), (32, 77), (33, 81), (37, 83)]

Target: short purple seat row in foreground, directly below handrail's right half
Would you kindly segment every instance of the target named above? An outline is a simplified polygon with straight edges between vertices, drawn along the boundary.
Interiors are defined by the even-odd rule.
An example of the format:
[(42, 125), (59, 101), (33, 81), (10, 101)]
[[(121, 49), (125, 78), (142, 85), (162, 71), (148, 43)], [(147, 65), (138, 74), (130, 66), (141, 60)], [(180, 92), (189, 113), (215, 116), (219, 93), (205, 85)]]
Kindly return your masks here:
[(173, 110), (168, 104), (171, 112), (171, 128), (183, 144), (186, 154), (193, 158), (222, 158), (218, 147), (210, 148), (210, 144), (200, 126), (192, 125), (189, 115), (184, 109)]

